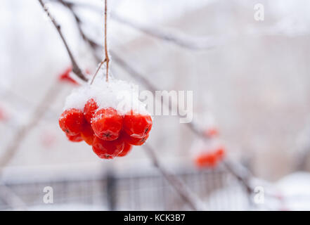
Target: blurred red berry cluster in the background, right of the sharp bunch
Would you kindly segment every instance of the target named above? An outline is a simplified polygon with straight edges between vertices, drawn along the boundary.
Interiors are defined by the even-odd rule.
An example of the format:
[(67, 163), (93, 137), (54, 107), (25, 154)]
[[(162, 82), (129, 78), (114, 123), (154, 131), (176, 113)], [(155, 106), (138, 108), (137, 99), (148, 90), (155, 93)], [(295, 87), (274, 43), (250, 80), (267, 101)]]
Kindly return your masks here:
[(225, 155), (225, 148), (219, 147), (214, 150), (208, 150), (205, 153), (201, 153), (195, 158), (195, 164), (202, 167), (216, 167), (218, 163), (223, 160)]

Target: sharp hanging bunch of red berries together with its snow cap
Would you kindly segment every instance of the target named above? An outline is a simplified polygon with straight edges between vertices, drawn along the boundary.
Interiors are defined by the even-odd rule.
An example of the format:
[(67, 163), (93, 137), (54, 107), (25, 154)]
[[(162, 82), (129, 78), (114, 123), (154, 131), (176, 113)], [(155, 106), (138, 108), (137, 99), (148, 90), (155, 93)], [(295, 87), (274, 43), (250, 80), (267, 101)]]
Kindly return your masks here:
[(148, 139), (152, 117), (138, 100), (138, 87), (117, 79), (96, 80), (67, 96), (60, 128), (67, 139), (85, 141), (99, 158), (127, 155)]

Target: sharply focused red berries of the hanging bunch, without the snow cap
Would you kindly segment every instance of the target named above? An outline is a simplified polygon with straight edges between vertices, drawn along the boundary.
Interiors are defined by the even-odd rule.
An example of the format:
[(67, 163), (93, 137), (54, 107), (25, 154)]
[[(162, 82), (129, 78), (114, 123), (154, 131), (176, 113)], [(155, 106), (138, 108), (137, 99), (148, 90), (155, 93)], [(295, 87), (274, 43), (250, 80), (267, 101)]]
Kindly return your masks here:
[(114, 108), (98, 108), (93, 98), (84, 110), (71, 108), (59, 118), (60, 128), (67, 139), (85, 141), (99, 158), (112, 159), (127, 155), (132, 146), (141, 146), (152, 128), (150, 115), (134, 113), (120, 115)]

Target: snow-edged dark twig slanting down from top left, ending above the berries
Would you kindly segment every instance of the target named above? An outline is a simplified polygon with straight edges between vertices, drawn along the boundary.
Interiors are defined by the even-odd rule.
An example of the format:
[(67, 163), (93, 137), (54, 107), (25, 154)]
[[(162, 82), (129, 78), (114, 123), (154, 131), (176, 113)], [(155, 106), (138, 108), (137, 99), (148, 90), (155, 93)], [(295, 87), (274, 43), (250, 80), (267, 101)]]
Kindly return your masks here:
[(44, 11), (46, 12), (46, 14), (49, 16), (49, 18), (51, 19), (51, 22), (53, 23), (53, 25), (56, 27), (56, 30), (60, 36), (60, 38), (63, 40), (63, 44), (65, 44), (65, 49), (67, 50), (67, 53), (70, 57), (71, 63), (72, 63), (72, 72), (75, 73), (75, 75), (77, 75), (77, 77), (79, 77), (80, 79), (84, 80), (85, 82), (87, 81), (86, 76), (83, 74), (82, 70), (79, 68), (79, 66), (77, 65), (77, 61), (75, 60), (68, 44), (67, 41), (65, 40), (65, 37), (63, 37), (63, 32), (61, 32), (61, 27), (60, 25), (56, 22), (55, 18), (53, 18), (53, 16), (51, 15), (51, 13), (49, 12), (49, 9), (45, 6), (45, 4), (43, 3), (42, 0), (38, 0), (39, 3), (41, 4), (42, 8), (44, 9)]

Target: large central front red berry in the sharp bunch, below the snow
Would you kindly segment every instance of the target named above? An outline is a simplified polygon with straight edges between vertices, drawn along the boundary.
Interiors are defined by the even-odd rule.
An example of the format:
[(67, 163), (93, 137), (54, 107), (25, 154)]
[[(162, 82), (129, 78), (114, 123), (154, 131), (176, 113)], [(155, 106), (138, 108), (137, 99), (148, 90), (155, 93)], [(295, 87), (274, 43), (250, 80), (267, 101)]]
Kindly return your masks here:
[(123, 117), (114, 108), (98, 110), (91, 120), (91, 127), (98, 138), (105, 141), (116, 140), (120, 136)]

